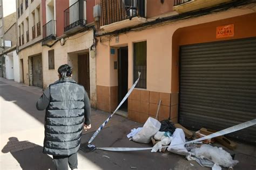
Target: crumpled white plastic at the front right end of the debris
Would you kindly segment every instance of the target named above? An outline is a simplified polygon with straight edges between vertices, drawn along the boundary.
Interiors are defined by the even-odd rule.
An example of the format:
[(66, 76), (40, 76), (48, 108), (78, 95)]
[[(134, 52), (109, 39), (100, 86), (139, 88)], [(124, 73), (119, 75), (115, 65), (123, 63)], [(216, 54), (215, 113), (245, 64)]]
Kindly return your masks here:
[(197, 158), (206, 158), (213, 161), (215, 164), (223, 167), (233, 167), (237, 165), (238, 160), (233, 160), (230, 153), (223, 150), (223, 148), (213, 147), (211, 145), (201, 145), (200, 148), (195, 148), (194, 152)]

